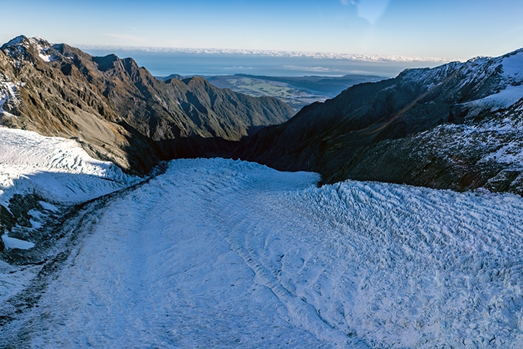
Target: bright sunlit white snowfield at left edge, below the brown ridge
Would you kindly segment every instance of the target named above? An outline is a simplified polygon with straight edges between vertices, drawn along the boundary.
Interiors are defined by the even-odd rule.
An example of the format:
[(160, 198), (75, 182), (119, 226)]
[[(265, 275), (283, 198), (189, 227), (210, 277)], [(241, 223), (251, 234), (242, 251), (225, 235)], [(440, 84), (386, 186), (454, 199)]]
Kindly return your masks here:
[(113, 163), (91, 158), (74, 140), (0, 127), (0, 205), (15, 193), (77, 204), (138, 180)]

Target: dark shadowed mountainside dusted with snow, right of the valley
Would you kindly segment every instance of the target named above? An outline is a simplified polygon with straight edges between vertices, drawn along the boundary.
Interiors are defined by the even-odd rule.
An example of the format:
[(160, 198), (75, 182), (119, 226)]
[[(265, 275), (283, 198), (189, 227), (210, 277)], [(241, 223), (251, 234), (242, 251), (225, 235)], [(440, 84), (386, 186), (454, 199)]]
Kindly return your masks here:
[[(523, 80), (510, 71), (522, 55), (405, 70), (394, 79), (356, 85), (261, 130), (235, 157), (320, 172), (324, 183), (358, 179), (519, 192), (515, 182), (522, 171), (489, 156), (508, 140), (520, 144), (522, 111), (515, 102), (523, 97), (517, 90)], [(510, 59), (505, 69), (504, 59)], [(499, 96), (510, 95), (503, 90), (521, 96), (503, 104)], [(503, 121), (505, 131), (496, 131), (507, 118), (513, 121)]]

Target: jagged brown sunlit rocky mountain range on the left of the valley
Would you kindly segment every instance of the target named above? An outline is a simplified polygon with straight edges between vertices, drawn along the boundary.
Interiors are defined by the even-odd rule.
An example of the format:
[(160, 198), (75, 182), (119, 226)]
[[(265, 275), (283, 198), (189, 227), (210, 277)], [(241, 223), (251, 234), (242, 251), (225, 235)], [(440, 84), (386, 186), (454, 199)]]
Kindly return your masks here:
[[(136, 174), (186, 156), (187, 144), (192, 156), (229, 151), (215, 147), (294, 114), (275, 98), (243, 96), (197, 77), (156, 80), (130, 58), (91, 57), (43, 38), (3, 45), (0, 77), (17, 93), (3, 104), (0, 124), (75, 138), (91, 156)], [(201, 143), (208, 151), (199, 152)]]

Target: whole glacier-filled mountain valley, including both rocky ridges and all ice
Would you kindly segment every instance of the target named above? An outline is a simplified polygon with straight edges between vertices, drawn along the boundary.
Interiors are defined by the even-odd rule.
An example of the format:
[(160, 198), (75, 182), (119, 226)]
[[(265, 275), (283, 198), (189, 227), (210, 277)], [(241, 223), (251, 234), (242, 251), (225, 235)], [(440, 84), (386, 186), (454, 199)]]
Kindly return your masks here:
[(3, 45), (0, 348), (521, 348), (523, 49), (376, 79)]

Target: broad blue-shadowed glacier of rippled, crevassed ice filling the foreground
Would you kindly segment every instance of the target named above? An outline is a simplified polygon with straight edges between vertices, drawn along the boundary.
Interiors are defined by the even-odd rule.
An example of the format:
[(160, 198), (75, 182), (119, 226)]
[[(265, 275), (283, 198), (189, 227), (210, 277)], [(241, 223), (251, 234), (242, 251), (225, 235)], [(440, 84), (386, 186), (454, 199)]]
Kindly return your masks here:
[[(521, 348), (523, 200), (177, 160), (109, 200), (33, 348)], [(1, 281), (0, 281), (1, 282)]]

